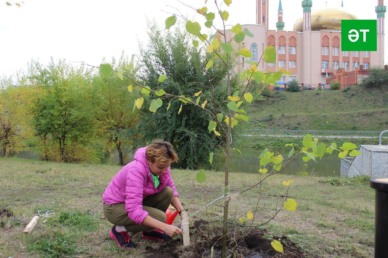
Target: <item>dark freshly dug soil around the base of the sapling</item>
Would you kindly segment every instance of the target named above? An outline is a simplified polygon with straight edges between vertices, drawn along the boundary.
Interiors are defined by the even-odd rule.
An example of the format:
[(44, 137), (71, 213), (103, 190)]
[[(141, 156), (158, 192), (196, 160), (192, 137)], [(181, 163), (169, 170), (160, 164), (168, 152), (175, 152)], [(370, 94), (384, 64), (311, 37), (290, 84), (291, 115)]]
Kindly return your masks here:
[[(209, 236), (209, 224), (204, 220), (197, 220), (194, 225), (190, 227), (191, 246), (183, 249), (183, 241), (181, 238), (173, 239), (170, 242), (161, 244), (158, 248), (147, 246), (147, 258), (177, 258), (177, 257), (210, 257), (211, 248), (213, 247), (213, 257), (221, 256), (221, 235)], [(218, 231), (219, 230), (219, 231)], [(216, 232), (221, 232), (221, 229)], [(296, 244), (289, 241), (286, 236), (277, 237), (273, 239), (281, 241), (284, 253), (279, 253), (271, 246), (272, 239), (268, 232), (261, 229), (254, 229), (249, 232), (244, 232), (243, 229), (229, 230), (227, 241), (227, 255), (234, 251), (235, 257), (249, 257), (249, 258), (305, 258), (304, 251), (297, 248)]]

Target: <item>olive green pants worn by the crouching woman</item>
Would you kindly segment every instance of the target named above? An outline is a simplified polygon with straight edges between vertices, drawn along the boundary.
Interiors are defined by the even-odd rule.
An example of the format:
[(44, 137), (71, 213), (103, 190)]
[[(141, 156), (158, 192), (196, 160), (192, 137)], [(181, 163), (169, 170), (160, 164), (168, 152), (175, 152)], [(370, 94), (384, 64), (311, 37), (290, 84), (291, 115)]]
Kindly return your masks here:
[[(161, 192), (149, 195), (143, 199), (143, 210), (147, 211), (152, 218), (161, 222), (166, 222), (166, 210), (171, 204), (173, 196), (174, 191), (171, 187), (166, 186)], [(112, 205), (104, 203), (104, 215), (113, 225), (124, 226), (126, 231), (132, 234), (154, 229), (133, 222), (133, 220), (128, 217), (128, 212), (125, 210), (125, 203), (116, 203)]]

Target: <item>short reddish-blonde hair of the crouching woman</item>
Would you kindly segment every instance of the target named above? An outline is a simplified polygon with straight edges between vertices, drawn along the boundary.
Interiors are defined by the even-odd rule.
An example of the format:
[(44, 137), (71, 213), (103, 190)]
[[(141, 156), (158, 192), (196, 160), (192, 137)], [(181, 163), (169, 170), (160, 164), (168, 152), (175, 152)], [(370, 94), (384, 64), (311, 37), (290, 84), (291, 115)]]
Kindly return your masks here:
[(168, 141), (154, 141), (145, 150), (145, 157), (152, 163), (158, 163), (158, 165), (166, 165), (169, 161), (178, 161), (178, 155), (175, 153), (173, 146)]

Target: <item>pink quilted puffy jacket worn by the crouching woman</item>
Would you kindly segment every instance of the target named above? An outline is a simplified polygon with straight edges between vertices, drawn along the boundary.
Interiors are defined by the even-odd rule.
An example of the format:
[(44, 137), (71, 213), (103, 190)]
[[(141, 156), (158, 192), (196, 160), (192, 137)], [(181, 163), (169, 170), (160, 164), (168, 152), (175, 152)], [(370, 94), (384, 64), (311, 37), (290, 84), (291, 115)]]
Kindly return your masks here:
[(102, 201), (106, 204), (125, 203), (128, 217), (137, 224), (142, 224), (148, 215), (142, 206), (145, 197), (159, 193), (165, 186), (170, 186), (174, 191), (174, 196), (178, 196), (171, 179), (170, 167), (159, 177), (160, 184), (155, 189), (154, 180), (145, 158), (146, 148), (143, 147), (136, 151), (135, 160), (125, 165), (113, 177), (102, 195)]

